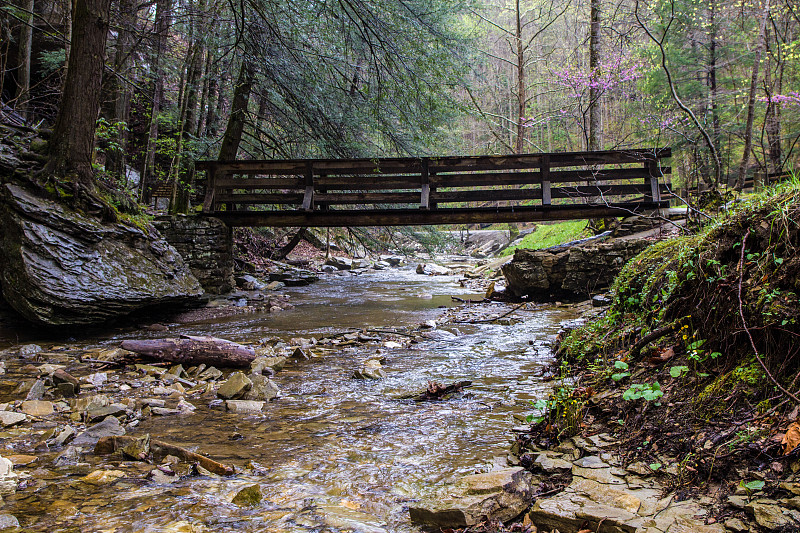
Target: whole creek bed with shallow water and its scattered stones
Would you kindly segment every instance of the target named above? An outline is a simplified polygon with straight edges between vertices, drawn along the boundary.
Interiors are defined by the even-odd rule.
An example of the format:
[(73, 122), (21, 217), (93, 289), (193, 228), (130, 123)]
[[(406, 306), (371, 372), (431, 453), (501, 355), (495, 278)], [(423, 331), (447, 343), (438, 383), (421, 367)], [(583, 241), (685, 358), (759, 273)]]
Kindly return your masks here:
[[(243, 291), (284, 295), (280, 312), (159, 317), (59, 342), (28, 332), (2, 351), (3, 519), (25, 531), (417, 531), (415, 502), (508, 467), (511, 429), (547, 389), (547, 343), (574, 315), (462, 304), (483, 299), (478, 285), (413, 265), (337, 269)], [(182, 334), (259, 358), (193, 367), (119, 348)], [(413, 399), (463, 380), (447, 400)]]

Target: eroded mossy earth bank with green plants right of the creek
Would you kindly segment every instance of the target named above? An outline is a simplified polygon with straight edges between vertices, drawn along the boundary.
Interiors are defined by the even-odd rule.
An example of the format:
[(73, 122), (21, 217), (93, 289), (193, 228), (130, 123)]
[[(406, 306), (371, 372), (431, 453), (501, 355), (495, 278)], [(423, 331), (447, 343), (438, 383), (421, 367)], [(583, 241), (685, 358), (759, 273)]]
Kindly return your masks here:
[(540, 403), (520, 454), (602, 434), (620, 466), (702, 496), (707, 525), (797, 531), (798, 249), (794, 185), (634, 258), (609, 311), (563, 335), (573, 379)]

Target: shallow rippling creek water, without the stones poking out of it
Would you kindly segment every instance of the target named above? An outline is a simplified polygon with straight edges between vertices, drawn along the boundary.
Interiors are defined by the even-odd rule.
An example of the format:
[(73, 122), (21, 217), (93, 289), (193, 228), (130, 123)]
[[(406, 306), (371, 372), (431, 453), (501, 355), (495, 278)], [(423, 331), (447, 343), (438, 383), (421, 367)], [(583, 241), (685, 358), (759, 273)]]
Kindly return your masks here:
[[(455, 276), (423, 276), (411, 269), (331, 275), (286, 292), (294, 309), (175, 326), (169, 335), (243, 343), (322, 338), (348, 328), (417, 325), (439, 318), (440, 307), (455, 305), (451, 295), (482, 296), (460, 287)], [(508, 309), (498, 305), (496, 313)], [(138, 477), (92, 485), (80, 477), (115, 468), (119, 460), (88, 454), (82, 463), (56, 467), (56, 452), (25, 449), (23, 443), (33, 446), (36, 439), (20, 439), (15, 431), (21, 429), (6, 430), (0, 435), (3, 456), (31, 453), (39, 460), (23, 469), (30, 478), (5, 496), (3, 512), (16, 516), (26, 531), (418, 531), (408, 505), (463, 475), (503, 463), (511, 428), (530, 412), (529, 401), (547, 394), (548, 384), (537, 376), (552, 360), (548, 344), (559, 324), (575, 312), (540, 306), (513, 316), (518, 320), (506, 325), (440, 324), (420, 342), (383, 348), (388, 377), (381, 381), (351, 378), (380, 345), (348, 346), (278, 372), (273, 380), (281, 397), (260, 415), (213, 410), (208, 400), (190, 398), (197, 406), (193, 413), (144, 418), (128, 431), (231, 464), (237, 469), (231, 477), (157, 484), (144, 478), (142, 463)], [(115, 333), (73, 345), (115, 346), (126, 338), (165, 335)], [(6, 378), (13, 379), (14, 371), (12, 365)], [(473, 386), (446, 401), (398, 399), (424, 391), (431, 380), (471, 380)], [(129, 392), (137, 396), (135, 388)], [(4, 396), (3, 401), (12, 399)], [(46, 421), (33, 426), (40, 433), (48, 427)], [(231, 503), (253, 484), (263, 494), (259, 505)]]

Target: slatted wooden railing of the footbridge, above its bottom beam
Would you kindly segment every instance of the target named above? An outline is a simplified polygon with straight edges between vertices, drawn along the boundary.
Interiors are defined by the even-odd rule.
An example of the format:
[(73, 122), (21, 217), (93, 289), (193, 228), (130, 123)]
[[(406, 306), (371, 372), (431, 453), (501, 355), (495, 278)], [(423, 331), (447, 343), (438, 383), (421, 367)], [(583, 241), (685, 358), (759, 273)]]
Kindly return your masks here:
[[(508, 156), (199, 161), (203, 211), (391, 212), (662, 204), (669, 148)], [(362, 217), (363, 218), (363, 217)], [(422, 218), (425, 218), (424, 216)]]

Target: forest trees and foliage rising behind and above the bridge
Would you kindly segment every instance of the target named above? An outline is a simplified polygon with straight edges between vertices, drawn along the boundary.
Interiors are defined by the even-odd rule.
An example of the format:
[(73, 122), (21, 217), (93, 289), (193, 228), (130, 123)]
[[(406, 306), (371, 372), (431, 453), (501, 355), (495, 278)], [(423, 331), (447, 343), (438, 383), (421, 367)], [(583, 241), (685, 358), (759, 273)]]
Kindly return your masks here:
[(705, 187), (797, 161), (790, 0), (15, 0), (0, 31), (3, 121), (145, 202), (186, 204), (196, 159), (672, 146)]

